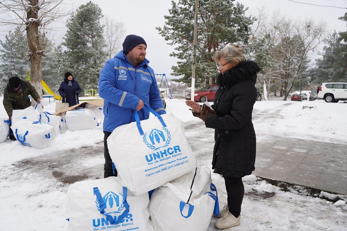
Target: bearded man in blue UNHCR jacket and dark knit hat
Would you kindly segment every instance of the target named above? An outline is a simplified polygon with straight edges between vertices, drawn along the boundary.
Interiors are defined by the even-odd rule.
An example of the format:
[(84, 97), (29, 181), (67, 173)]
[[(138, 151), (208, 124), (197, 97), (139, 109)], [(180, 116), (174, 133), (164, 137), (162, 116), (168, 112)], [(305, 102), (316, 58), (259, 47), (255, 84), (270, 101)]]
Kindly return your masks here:
[[(112, 172), (112, 159), (107, 138), (118, 126), (135, 121), (134, 110), (141, 120), (149, 118), (149, 105), (160, 115), (166, 114), (154, 72), (145, 58), (147, 44), (140, 36), (130, 34), (123, 50), (109, 59), (100, 72), (99, 95), (104, 101), (104, 178), (117, 176)], [(115, 163), (117, 160), (113, 160)]]

